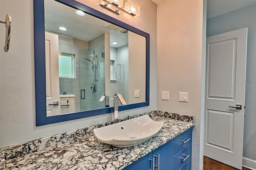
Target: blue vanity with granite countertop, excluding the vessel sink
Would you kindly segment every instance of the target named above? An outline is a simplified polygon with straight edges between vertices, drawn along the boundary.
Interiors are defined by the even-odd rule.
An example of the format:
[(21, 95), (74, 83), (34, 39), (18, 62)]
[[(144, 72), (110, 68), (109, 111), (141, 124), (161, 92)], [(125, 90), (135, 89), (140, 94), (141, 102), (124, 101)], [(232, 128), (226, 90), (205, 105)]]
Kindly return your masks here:
[(118, 148), (98, 141), (92, 131), (112, 123), (107, 122), (0, 148), (0, 167), (5, 170), (153, 170), (154, 159), (155, 170), (157, 166), (159, 170), (191, 169), (194, 117), (152, 111), (131, 119), (142, 115), (164, 121), (162, 129), (142, 144)]

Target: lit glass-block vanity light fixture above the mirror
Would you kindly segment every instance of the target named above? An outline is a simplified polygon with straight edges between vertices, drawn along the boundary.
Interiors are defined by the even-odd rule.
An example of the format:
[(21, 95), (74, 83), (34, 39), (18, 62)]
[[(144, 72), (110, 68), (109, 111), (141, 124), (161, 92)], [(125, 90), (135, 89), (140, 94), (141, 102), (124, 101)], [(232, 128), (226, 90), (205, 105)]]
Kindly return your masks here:
[(133, 17), (138, 17), (140, 15), (140, 6), (131, 0), (128, 0), (125, 3), (125, 9), (121, 8), (123, 6), (123, 0), (100, 0), (100, 6), (107, 8), (118, 15), (121, 14), (121, 11)]

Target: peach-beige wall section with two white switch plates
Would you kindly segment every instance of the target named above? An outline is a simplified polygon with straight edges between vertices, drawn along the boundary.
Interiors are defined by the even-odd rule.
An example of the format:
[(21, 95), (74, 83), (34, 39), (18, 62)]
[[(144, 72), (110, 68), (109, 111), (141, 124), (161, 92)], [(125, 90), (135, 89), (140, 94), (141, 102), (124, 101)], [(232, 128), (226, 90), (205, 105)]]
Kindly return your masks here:
[[(166, 0), (158, 4), (157, 109), (195, 116), (192, 170), (202, 169), (203, 165), (203, 141), (200, 140), (202, 34), (202, 0)], [(161, 91), (169, 91), (169, 101), (161, 100)], [(179, 92), (188, 92), (188, 103), (178, 101)]]

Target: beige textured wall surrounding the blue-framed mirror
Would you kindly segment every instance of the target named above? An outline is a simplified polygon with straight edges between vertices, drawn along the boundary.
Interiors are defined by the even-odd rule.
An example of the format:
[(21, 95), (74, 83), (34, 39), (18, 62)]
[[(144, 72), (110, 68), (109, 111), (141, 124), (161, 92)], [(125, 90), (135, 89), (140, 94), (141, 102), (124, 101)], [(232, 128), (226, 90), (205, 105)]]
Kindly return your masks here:
[[(119, 117), (156, 110), (156, 4), (138, 0), (140, 16), (116, 14), (102, 8), (98, 0), (84, 1), (88, 6), (150, 34), (150, 106), (120, 112)], [(0, 18), (12, 16), (10, 50), (3, 51), (0, 40), (0, 142), (1, 146), (24, 142), (112, 120), (100, 115), (52, 125), (35, 127), (34, 29), (32, 0), (0, 0)], [(5, 29), (1, 24), (1, 38)], [(44, 97), (44, 96), (43, 96)]]

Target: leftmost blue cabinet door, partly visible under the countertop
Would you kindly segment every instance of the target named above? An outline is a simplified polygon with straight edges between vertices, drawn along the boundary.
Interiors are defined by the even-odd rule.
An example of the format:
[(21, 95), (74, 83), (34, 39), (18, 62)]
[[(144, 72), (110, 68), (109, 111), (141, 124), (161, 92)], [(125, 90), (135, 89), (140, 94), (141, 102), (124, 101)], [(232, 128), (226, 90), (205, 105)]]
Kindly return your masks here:
[(153, 162), (150, 161), (153, 158), (153, 152), (143, 156), (136, 162), (133, 162), (129, 166), (125, 167), (123, 170), (152, 170)]

